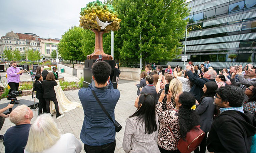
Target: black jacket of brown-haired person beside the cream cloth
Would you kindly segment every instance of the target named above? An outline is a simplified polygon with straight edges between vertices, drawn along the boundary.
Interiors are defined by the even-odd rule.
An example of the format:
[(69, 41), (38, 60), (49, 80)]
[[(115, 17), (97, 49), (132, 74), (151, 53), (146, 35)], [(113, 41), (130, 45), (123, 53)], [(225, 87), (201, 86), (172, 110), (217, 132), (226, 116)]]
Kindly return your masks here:
[(54, 86), (58, 85), (55, 80), (44, 80), (42, 83), (43, 87), (43, 97), (44, 98), (52, 98), (56, 96), (54, 91)]

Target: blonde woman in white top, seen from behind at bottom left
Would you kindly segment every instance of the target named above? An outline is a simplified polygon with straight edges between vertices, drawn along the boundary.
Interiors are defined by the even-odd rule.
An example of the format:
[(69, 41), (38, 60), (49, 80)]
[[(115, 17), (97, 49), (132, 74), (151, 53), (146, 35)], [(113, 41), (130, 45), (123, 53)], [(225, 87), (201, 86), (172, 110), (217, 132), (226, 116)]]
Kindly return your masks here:
[(82, 145), (71, 133), (60, 134), (50, 114), (42, 114), (31, 125), (24, 153), (79, 153)]

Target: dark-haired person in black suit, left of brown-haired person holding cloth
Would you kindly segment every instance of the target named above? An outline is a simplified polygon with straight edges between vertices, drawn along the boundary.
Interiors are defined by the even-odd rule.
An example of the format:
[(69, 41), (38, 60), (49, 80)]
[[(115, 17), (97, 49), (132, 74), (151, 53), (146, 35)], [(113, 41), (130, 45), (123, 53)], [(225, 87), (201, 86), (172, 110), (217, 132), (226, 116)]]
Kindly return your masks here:
[(38, 115), (40, 115), (42, 114), (42, 110), (44, 113), (47, 113), (45, 99), (43, 98), (43, 88), (42, 88), (43, 76), (36, 75), (35, 79), (36, 81), (34, 83), (34, 91), (36, 91), (36, 98), (39, 100)]

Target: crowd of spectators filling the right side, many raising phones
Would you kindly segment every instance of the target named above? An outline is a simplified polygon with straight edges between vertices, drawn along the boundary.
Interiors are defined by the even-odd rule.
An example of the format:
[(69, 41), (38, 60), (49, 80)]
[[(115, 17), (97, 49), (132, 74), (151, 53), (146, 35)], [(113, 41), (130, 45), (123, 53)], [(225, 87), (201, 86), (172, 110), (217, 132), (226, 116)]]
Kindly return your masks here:
[[(136, 84), (138, 109), (126, 122), (125, 152), (180, 152), (177, 140), (185, 139), (197, 125), (206, 135), (195, 153), (205, 153), (206, 149), (256, 151), (256, 67), (231, 66), (217, 74), (207, 61), (200, 66), (188, 63), (182, 71), (180, 67), (172, 71), (168, 66), (164, 75), (161, 66), (156, 70), (151, 72), (151, 65), (145, 66), (141, 81)], [(152, 79), (155, 77), (158, 79)], [(166, 84), (170, 84), (168, 94), (164, 94)], [(150, 104), (155, 103), (156, 93), (157, 104), (152, 111)], [(154, 112), (152, 116), (143, 111), (144, 105)]]

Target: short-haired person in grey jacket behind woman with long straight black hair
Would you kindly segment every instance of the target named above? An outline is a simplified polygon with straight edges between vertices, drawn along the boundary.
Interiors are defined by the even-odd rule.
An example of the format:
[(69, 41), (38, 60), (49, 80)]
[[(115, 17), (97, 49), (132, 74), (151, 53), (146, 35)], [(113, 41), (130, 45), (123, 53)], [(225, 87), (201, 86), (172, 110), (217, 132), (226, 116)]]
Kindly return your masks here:
[(156, 87), (153, 85), (154, 77), (152, 75), (146, 76), (146, 86), (142, 88), (141, 92), (143, 93), (151, 93), (155, 98), (155, 102), (158, 102), (158, 94), (156, 91)]

